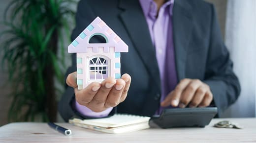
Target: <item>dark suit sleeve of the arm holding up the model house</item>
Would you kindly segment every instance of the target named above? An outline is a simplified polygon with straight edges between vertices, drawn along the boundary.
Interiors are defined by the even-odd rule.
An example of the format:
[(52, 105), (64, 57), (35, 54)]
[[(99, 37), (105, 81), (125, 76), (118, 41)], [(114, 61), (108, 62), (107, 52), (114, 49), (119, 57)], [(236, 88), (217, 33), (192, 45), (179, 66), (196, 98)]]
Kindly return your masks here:
[[(72, 31), (71, 41), (73, 41), (85, 28), (96, 18), (93, 10), (91, 9), (90, 4), (87, 3), (87, 0), (80, 0), (77, 7), (76, 13), (76, 26)], [(76, 54), (72, 54), (72, 65), (68, 68), (65, 79), (67, 75), (71, 72), (76, 71)], [(58, 110), (65, 121), (68, 121), (70, 118), (80, 118), (80, 119), (91, 119), (86, 117), (83, 114), (75, 110), (75, 95), (74, 89), (71, 87), (65, 86), (65, 92), (62, 95), (61, 100), (59, 101)], [(109, 116), (114, 115), (116, 108), (114, 108)]]

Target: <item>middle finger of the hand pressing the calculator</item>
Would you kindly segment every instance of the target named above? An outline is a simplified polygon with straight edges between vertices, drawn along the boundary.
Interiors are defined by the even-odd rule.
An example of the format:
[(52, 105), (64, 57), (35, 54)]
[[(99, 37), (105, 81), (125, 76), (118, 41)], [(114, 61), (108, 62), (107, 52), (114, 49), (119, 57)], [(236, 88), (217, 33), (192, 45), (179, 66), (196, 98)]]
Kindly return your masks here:
[(198, 79), (191, 80), (191, 82), (188, 84), (186, 89), (181, 94), (180, 104), (179, 104), (180, 108), (185, 108), (189, 104), (195, 92), (201, 85), (202, 85), (202, 82), (200, 80)]

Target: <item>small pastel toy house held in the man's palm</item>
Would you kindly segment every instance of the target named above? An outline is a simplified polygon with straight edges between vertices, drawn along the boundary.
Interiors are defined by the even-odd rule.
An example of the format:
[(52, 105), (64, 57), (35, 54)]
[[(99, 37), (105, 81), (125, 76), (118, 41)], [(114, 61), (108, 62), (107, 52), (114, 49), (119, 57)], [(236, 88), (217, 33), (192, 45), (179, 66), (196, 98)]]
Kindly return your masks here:
[[(102, 36), (106, 43), (89, 43), (95, 35)], [(128, 46), (97, 17), (68, 46), (68, 52), (76, 53), (77, 85), (81, 90), (110, 76), (120, 78), (120, 52), (128, 52)]]

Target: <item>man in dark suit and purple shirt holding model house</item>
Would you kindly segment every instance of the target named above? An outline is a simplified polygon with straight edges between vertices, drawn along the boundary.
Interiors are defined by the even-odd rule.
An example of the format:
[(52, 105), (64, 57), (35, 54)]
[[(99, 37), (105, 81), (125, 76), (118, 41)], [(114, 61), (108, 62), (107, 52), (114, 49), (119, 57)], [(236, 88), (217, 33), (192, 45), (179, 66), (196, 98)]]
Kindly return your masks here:
[(237, 99), (240, 85), (212, 4), (202, 0), (81, 0), (72, 40), (96, 16), (128, 44), (129, 52), (121, 55), (121, 72), (126, 74), (78, 91), (72, 55), (66, 79), (69, 87), (59, 104), (65, 121), (73, 116), (106, 117), (116, 110), (152, 116), (173, 107), (217, 106), (221, 113)]

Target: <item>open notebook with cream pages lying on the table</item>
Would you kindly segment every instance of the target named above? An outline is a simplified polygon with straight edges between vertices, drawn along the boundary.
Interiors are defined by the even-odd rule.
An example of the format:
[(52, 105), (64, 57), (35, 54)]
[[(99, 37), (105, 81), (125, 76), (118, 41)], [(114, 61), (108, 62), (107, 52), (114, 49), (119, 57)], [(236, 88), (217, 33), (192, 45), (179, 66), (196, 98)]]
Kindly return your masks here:
[(69, 123), (100, 132), (119, 134), (149, 128), (150, 117), (115, 114), (101, 119), (69, 119)]

